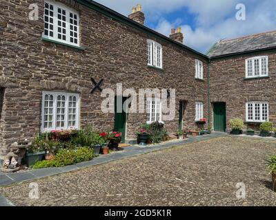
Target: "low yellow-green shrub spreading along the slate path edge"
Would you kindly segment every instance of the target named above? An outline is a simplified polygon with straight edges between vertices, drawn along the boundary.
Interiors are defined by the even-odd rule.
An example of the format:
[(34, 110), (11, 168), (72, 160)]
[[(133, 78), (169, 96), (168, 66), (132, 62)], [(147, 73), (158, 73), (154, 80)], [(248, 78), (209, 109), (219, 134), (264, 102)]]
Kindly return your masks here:
[(79, 147), (76, 150), (60, 149), (52, 160), (43, 160), (35, 163), (31, 168), (60, 167), (89, 161), (94, 157), (93, 150)]

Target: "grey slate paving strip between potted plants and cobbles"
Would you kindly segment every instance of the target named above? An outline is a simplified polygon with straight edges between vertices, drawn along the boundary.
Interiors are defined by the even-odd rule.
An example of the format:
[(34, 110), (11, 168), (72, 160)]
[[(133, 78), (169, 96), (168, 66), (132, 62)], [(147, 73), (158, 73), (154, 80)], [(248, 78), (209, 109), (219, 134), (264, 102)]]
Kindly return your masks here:
[(143, 155), (145, 153), (150, 153), (154, 151), (159, 151), (161, 149), (171, 148), (172, 146), (182, 146), (185, 144), (198, 142), (201, 140), (208, 140), (215, 137), (224, 137), (226, 135), (228, 134), (224, 132), (214, 132), (214, 133), (211, 133), (210, 135), (202, 135), (197, 137), (188, 136), (188, 138), (184, 140), (178, 140), (178, 139), (171, 140), (168, 142), (162, 142), (161, 144), (151, 144), (150, 146), (146, 146), (146, 147), (132, 145), (124, 148), (124, 151), (117, 151), (115, 153), (110, 153), (108, 155), (99, 155), (99, 157), (94, 157), (90, 161), (81, 162), (79, 164), (63, 166), (63, 167), (41, 168), (36, 170), (23, 170), (17, 173), (0, 173), (0, 186), (7, 186), (9, 184), (17, 184), (23, 181), (41, 179), (43, 177), (50, 177), (52, 175), (59, 175), (61, 173), (68, 173), (70, 171), (79, 170), (81, 168), (87, 168), (90, 166), (104, 164), (104, 163), (112, 162), (119, 159), (135, 157), (137, 155)]

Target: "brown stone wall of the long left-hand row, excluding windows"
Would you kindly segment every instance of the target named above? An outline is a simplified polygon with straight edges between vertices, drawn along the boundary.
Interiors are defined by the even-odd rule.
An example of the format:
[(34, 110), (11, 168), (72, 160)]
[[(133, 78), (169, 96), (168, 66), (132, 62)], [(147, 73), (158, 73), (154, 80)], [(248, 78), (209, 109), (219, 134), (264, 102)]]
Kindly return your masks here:
[[(184, 128), (195, 126), (195, 101), (204, 102), (207, 115), (207, 63), (204, 58), (155, 39), (128, 25), (119, 23), (95, 10), (66, 1), (80, 14), (81, 46), (85, 50), (41, 40), (43, 1), (0, 0), (0, 66), (8, 80), (1, 118), (1, 152), (14, 141), (30, 138), (39, 132), (42, 91), (67, 91), (80, 94), (81, 124), (90, 123), (99, 131), (111, 130), (114, 114), (102, 113), (99, 91), (90, 94), (90, 77), (102, 88), (177, 89), (175, 120), (166, 122), (169, 132), (178, 129), (178, 102), (187, 100)], [(28, 19), (30, 3), (39, 4), (39, 21)], [(147, 66), (146, 40), (163, 46), (164, 69)], [(195, 58), (204, 61), (204, 80), (195, 80)], [(139, 124), (146, 122), (146, 113), (128, 115), (127, 138), (135, 137)], [(1, 138), (1, 137), (0, 137)]]

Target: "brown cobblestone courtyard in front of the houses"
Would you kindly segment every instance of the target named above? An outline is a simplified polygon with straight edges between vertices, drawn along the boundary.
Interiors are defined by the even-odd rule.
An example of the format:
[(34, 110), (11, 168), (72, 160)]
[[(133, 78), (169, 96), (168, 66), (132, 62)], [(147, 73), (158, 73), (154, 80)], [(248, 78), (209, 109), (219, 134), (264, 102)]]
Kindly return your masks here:
[[(17, 206), (276, 206), (265, 169), (273, 139), (217, 137), (35, 182), (1, 187)], [(244, 182), (246, 199), (237, 199)]]

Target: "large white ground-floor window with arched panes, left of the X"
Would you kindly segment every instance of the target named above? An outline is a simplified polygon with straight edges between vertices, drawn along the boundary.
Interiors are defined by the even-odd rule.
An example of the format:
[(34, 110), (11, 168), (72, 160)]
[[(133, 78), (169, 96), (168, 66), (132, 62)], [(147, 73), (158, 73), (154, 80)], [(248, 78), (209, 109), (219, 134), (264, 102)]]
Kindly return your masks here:
[(79, 94), (43, 91), (42, 131), (79, 128)]

